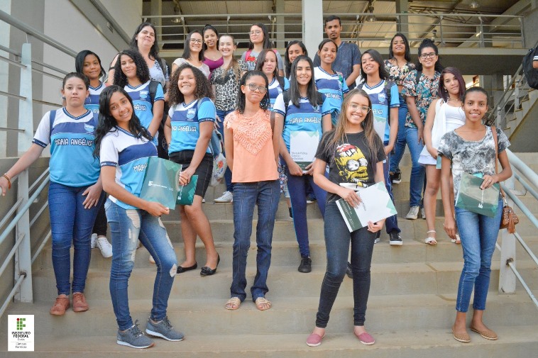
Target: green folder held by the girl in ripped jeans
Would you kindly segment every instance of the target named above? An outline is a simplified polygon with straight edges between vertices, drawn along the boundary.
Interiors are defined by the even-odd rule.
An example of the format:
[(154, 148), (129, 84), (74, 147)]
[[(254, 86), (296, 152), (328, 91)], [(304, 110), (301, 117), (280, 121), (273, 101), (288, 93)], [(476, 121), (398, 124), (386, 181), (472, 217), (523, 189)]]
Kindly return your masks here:
[(177, 191), (180, 189), (181, 167), (181, 164), (170, 160), (149, 157), (140, 197), (174, 210)]

